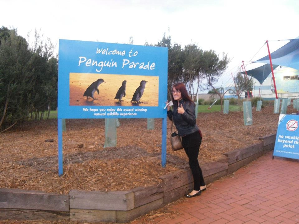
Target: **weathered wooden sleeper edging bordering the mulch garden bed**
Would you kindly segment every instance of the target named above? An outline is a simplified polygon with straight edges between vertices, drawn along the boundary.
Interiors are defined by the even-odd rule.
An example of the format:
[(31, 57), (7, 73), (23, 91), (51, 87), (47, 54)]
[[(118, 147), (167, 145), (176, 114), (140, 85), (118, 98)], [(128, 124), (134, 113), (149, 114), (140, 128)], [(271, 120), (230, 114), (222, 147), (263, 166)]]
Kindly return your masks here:
[[(260, 143), (227, 152), (225, 160), (203, 164), (206, 184), (226, 176), (274, 149), (276, 134), (259, 138)], [(158, 186), (129, 191), (70, 190), (68, 195), (22, 189), (0, 189), (0, 220), (70, 219), (81, 222), (130, 222), (143, 214), (181, 198), (192, 189), (190, 170), (159, 177)], [(11, 216), (12, 215), (12, 216)]]

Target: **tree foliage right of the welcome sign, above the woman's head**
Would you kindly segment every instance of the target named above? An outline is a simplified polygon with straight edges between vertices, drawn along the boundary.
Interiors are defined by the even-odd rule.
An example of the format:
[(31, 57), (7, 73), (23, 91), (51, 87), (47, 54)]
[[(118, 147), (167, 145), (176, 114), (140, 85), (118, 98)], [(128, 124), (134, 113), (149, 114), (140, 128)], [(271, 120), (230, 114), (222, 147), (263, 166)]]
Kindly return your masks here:
[[(147, 42), (145, 45), (149, 45)], [(172, 44), (171, 37), (163, 35), (155, 46), (168, 48), (168, 90), (176, 82), (186, 84), (190, 95), (197, 95), (203, 80), (213, 84), (218, 81), (230, 59), (223, 54), (222, 59), (213, 50), (203, 51), (196, 44), (187, 44), (184, 49), (180, 44)], [(210, 86), (210, 84), (208, 85)]]

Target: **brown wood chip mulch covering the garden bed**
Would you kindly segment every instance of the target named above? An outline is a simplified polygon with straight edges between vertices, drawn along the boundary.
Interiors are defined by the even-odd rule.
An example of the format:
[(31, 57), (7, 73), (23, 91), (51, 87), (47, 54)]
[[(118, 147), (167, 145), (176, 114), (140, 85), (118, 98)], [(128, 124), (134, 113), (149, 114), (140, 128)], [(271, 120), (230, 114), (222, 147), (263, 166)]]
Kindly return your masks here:
[[(288, 106), (287, 113), (295, 113)], [(253, 125), (244, 125), (243, 112), (199, 113), (202, 131), (199, 162), (218, 161), (224, 152), (259, 142), (275, 134), (279, 114), (273, 106), (252, 110)], [(58, 176), (57, 120), (30, 121), (0, 134), (0, 188), (68, 194), (86, 191), (129, 190), (155, 186), (159, 176), (188, 169), (183, 150), (173, 152), (167, 142), (167, 165), (161, 167), (162, 119), (147, 130), (147, 119), (119, 119), (117, 146), (103, 147), (104, 119), (67, 119), (63, 133), (64, 174)], [(171, 122), (168, 122), (168, 135)], [(155, 214), (156, 215), (156, 214)]]

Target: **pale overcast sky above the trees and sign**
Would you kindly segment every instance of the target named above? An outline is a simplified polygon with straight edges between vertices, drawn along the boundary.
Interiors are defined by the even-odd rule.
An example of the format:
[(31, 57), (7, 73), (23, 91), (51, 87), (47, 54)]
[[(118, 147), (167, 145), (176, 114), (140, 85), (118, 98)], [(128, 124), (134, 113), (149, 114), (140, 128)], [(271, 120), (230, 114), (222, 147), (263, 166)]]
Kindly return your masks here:
[[(108, 43), (156, 44), (164, 32), (172, 43), (197, 44), (232, 58), (219, 85), (244, 61), (274, 51), (299, 36), (298, 0), (1, 0), (0, 26), (17, 28), (26, 38), (40, 30), (59, 39)], [(248, 69), (249, 70), (249, 65)]]

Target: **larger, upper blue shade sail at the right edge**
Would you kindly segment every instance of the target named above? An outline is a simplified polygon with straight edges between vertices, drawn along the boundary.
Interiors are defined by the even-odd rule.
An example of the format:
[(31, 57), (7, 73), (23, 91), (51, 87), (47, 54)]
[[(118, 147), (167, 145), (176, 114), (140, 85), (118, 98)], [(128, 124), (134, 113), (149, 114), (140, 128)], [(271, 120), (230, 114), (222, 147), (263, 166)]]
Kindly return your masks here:
[[(290, 42), (271, 53), (271, 60), (273, 65), (282, 65), (299, 70), (299, 39), (292, 39)], [(254, 62), (270, 64), (269, 55)]]

